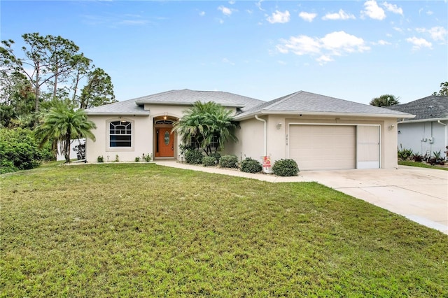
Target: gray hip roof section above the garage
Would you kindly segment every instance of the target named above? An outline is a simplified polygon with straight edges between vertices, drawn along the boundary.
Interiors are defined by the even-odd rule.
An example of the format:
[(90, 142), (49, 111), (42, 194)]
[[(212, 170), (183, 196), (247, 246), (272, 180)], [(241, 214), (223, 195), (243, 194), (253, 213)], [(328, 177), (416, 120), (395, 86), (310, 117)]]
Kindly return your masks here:
[(308, 115), (365, 115), (371, 117), (410, 118), (412, 115), (391, 111), (377, 106), (358, 104), (353, 101), (336, 99), (320, 94), (299, 91), (293, 94), (267, 101), (247, 109), (237, 115), (238, 119), (249, 118), (256, 114), (303, 113)]

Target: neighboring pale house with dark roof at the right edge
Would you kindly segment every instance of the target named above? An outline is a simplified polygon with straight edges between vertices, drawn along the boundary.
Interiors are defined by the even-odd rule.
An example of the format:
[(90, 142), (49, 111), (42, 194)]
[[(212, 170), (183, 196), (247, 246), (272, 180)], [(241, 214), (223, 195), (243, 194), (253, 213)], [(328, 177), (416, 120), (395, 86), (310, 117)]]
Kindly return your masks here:
[(440, 151), (446, 157), (448, 97), (431, 95), (387, 108), (416, 115), (398, 122), (398, 148), (412, 149), (421, 155)]

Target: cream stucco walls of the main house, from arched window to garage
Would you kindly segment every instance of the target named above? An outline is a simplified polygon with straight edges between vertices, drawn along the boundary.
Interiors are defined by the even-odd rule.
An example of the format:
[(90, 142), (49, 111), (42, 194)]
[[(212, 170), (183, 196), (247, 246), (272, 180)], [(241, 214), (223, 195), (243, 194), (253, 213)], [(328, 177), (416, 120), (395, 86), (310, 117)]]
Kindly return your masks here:
[[(171, 119), (181, 118), (188, 106), (167, 106), (167, 105), (145, 105), (145, 110), (150, 111), (149, 116), (123, 116), (122, 120), (133, 123), (133, 146), (132, 148), (109, 148), (109, 122), (120, 120), (119, 116), (99, 116), (90, 115), (89, 119), (95, 122), (97, 129), (93, 134), (97, 141), (87, 139), (86, 157), (88, 162), (96, 162), (98, 156), (103, 156), (104, 161), (109, 156), (109, 161), (113, 161), (118, 155), (120, 161), (133, 162), (135, 157), (143, 153), (150, 153), (154, 156), (154, 127), (153, 120), (166, 115)], [(231, 109), (235, 112), (235, 109)], [(288, 145), (286, 142), (288, 126), (291, 123), (307, 124), (346, 124), (346, 125), (379, 125), (381, 133), (380, 166), (384, 169), (392, 169), (397, 166), (397, 122), (396, 119), (369, 119), (353, 117), (335, 116), (300, 116), (300, 115), (259, 115), (266, 120), (267, 146), (266, 153), (271, 157), (272, 162), (282, 158), (288, 158)], [(393, 126), (393, 127), (391, 127)], [(390, 127), (390, 129), (389, 129)], [(244, 159), (252, 157), (260, 160), (265, 154), (264, 143), (264, 123), (255, 118), (240, 121), (240, 129), (237, 129), (237, 143), (229, 142), (225, 144), (225, 150), (221, 154), (235, 154)], [(174, 158), (179, 158), (179, 144), (181, 136), (176, 135), (174, 142)]]

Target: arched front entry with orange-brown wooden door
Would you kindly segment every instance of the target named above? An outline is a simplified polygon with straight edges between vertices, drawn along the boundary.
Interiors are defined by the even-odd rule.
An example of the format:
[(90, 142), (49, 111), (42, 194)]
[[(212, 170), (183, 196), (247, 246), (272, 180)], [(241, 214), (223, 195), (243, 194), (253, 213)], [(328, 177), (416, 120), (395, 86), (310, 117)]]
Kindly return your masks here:
[(176, 140), (172, 132), (176, 119), (167, 116), (154, 119), (155, 129), (155, 157), (174, 157)]

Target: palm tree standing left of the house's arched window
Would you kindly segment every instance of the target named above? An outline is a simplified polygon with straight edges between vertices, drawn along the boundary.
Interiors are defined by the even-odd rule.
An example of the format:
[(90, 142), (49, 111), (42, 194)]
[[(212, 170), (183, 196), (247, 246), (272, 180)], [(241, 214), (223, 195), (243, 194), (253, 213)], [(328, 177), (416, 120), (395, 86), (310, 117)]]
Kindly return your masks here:
[(36, 136), (41, 139), (40, 146), (47, 141), (60, 143), (57, 150), (70, 162), (71, 139), (87, 137), (95, 141), (91, 130), (96, 128), (94, 122), (87, 120), (83, 110), (74, 110), (73, 106), (59, 102), (43, 115), (41, 124), (36, 127)]

